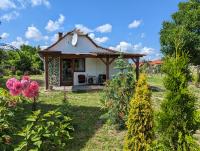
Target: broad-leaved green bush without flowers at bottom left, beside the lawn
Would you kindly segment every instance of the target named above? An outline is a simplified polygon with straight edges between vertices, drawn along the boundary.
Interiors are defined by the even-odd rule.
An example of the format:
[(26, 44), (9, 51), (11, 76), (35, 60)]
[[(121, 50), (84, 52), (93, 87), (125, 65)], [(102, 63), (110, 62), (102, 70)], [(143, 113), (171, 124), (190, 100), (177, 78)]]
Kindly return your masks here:
[(22, 140), (15, 151), (64, 150), (73, 131), (71, 119), (52, 110), (42, 114), (40, 110), (27, 117), (27, 125), (18, 133)]

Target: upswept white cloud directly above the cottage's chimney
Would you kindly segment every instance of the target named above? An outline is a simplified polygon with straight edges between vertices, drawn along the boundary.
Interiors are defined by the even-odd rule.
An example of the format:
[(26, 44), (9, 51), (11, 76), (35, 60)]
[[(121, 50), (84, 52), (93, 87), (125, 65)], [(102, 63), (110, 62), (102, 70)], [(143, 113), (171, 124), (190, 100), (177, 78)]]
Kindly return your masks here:
[(49, 32), (56, 31), (56, 30), (60, 29), (60, 26), (64, 23), (64, 21), (65, 21), (65, 16), (60, 14), (58, 20), (56, 20), (56, 21), (49, 20), (45, 29)]

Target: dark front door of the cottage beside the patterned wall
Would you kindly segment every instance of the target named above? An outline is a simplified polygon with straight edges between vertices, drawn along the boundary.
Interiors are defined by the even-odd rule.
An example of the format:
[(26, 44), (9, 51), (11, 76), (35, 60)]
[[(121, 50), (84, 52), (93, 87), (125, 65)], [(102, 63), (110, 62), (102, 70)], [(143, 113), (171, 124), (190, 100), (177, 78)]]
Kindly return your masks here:
[(62, 85), (73, 85), (73, 60), (72, 59), (63, 59), (62, 60)]

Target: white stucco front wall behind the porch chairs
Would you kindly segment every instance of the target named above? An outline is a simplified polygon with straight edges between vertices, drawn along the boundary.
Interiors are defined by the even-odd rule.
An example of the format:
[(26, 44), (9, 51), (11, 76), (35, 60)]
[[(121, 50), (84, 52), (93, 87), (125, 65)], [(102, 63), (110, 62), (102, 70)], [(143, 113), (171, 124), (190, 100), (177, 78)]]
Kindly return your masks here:
[[(104, 59), (105, 60), (105, 59)], [(112, 62), (109, 66), (109, 77), (117, 73), (117, 69), (114, 69), (115, 63)], [(86, 58), (85, 60), (85, 72), (74, 72), (74, 85), (80, 85), (78, 83), (78, 75), (84, 74), (87, 76), (96, 76), (98, 80), (99, 74), (106, 74), (105, 64), (98, 58)]]

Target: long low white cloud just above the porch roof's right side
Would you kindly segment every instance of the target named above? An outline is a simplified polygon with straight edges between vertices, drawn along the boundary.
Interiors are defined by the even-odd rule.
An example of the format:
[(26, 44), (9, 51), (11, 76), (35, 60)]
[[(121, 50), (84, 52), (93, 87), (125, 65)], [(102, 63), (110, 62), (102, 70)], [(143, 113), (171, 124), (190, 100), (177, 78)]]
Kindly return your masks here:
[(131, 44), (126, 41), (121, 41), (117, 46), (110, 48), (122, 52), (142, 53), (146, 55), (150, 55), (155, 52), (154, 48), (143, 46), (141, 43)]

